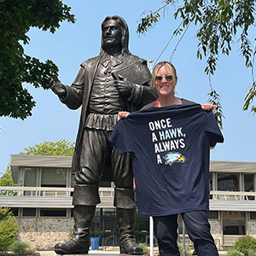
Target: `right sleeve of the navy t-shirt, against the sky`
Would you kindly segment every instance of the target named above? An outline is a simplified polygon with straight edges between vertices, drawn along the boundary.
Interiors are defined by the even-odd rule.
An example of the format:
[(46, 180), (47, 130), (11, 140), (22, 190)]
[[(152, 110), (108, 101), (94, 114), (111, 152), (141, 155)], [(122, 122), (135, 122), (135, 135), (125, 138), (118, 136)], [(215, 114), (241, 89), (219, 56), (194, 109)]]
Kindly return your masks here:
[(214, 147), (216, 143), (223, 143), (224, 137), (218, 127), (217, 120), (212, 111), (204, 111), (206, 114), (206, 128), (210, 147)]

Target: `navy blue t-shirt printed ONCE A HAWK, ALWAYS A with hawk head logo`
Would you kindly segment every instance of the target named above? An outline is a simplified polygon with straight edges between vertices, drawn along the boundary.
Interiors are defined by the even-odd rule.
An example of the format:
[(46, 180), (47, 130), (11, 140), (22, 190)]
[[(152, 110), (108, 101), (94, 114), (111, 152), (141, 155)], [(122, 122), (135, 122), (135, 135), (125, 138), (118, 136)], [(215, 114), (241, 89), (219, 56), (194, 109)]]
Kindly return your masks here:
[(131, 152), (139, 215), (208, 210), (210, 146), (224, 142), (212, 111), (147, 108), (120, 119), (109, 140)]

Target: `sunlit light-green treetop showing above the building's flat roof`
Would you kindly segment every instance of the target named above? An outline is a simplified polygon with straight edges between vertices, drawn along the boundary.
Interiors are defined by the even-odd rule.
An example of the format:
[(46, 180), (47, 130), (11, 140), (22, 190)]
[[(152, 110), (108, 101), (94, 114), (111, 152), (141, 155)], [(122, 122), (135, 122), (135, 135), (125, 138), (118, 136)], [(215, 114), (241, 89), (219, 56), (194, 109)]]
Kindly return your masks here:
[(67, 140), (60, 140), (55, 143), (44, 142), (34, 145), (33, 147), (24, 148), (20, 154), (32, 155), (73, 155), (75, 143)]

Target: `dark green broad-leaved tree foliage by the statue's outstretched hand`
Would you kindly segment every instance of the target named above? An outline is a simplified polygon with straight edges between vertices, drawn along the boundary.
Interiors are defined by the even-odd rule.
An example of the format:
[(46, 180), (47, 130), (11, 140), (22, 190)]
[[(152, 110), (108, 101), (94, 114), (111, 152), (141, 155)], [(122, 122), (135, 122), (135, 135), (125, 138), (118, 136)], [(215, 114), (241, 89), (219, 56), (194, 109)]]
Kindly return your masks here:
[(0, 116), (26, 119), (35, 106), (22, 83), (49, 89), (48, 75), (56, 73), (53, 61), (41, 62), (26, 55), (31, 27), (54, 33), (63, 20), (75, 21), (61, 0), (0, 0)]

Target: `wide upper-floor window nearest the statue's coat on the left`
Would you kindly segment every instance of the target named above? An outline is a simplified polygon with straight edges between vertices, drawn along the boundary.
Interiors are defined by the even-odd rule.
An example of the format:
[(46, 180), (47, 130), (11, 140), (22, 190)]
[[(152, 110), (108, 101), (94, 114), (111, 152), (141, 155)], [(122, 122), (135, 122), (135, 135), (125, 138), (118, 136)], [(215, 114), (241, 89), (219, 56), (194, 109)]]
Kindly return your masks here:
[(67, 168), (42, 168), (41, 187), (67, 187)]

